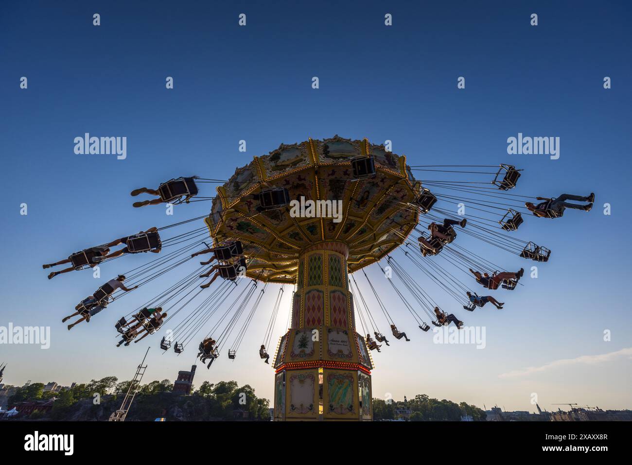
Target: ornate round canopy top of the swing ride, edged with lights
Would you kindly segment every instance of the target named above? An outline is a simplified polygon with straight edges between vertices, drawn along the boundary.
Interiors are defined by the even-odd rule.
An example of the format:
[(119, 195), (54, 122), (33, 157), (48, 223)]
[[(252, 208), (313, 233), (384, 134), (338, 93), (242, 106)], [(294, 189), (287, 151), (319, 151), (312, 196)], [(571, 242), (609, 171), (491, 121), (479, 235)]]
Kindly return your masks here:
[[(374, 176), (358, 173), (358, 157), (370, 155)], [(360, 169), (362, 171), (362, 167)], [(262, 210), (262, 190), (285, 188), (290, 200), (342, 201), (340, 218), (294, 217), (289, 207)], [(384, 145), (334, 136), (281, 144), (269, 155), (238, 168), (206, 219), (216, 245), (240, 240), (249, 277), (265, 282), (295, 282), (301, 250), (324, 241), (348, 245), (348, 272), (380, 260), (401, 245), (418, 221), (411, 208), (421, 189), (406, 157)], [(336, 221), (339, 220), (339, 221)]]

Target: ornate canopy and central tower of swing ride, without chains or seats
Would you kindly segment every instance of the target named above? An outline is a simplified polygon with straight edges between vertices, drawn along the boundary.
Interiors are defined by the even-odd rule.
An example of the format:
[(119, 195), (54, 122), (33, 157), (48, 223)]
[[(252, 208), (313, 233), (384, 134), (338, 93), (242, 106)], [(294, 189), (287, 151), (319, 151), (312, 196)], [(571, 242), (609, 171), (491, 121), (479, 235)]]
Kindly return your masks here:
[[(371, 420), (370, 351), (356, 332), (348, 274), (385, 257), (418, 222), (405, 157), (335, 136), (281, 145), (217, 188), (216, 244), (241, 241), (246, 275), (295, 284), (274, 357), (275, 420)], [(342, 219), (292, 217), (289, 200), (342, 200)]]

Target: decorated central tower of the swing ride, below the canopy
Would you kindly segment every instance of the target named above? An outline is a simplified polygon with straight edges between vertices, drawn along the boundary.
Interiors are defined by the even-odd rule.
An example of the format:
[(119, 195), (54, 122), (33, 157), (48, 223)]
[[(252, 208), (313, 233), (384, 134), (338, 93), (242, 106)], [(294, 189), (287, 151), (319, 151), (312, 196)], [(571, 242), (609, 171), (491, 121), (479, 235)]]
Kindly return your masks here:
[(355, 330), (347, 258), (334, 241), (300, 255), (292, 327), (274, 360), (275, 421), (372, 420), (373, 363)]

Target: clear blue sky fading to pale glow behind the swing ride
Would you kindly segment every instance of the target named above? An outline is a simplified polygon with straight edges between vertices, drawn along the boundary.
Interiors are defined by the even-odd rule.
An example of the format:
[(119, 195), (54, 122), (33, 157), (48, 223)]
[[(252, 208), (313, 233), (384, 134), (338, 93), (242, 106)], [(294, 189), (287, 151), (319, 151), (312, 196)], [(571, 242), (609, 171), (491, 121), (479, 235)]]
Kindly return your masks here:
[[(419, 277), (442, 306), (487, 328), (484, 350), (433, 344), (380, 282), (398, 327), (413, 341), (374, 353), (375, 397), (426, 393), (533, 410), (536, 392), (547, 409), (553, 402), (632, 407), (624, 352), (501, 377), (632, 347), (629, 3), (25, 1), (3, 10), (0, 325), (52, 331), (48, 350), (0, 346), (0, 361), (9, 364), (5, 382), (129, 379), (147, 345), (154, 347), (149, 380), (173, 380), (190, 368), (197, 344), (179, 357), (162, 355), (157, 335), (114, 346), (114, 322), (177, 273), (68, 332), (61, 318), (99, 283), (90, 272), (47, 281), (41, 264), (210, 208), (192, 203), (176, 208), (174, 217), (162, 207), (134, 209), (134, 188), (192, 174), (227, 179), (281, 142), (339, 134), (392, 140), (393, 152), (410, 164), (516, 164), (525, 169), (520, 194), (597, 195), (590, 214), (525, 222), (517, 235), (554, 255), (538, 279), (525, 277), (513, 294), (497, 291), (505, 310), (465, 313)], [(100, 27), (92, 25), (94, 13)], [(246, 27), (238, 27), (240, 13), (247, 15)], [(386, 13), (392, 27), (384, 25)], [(538, 14), (537, 27), (530, 26), (531, 13)], [(20, 89), (21, 76), (28, 78), (27, 90)], [(173, 76), (173, 90), (166, 90), (166, 76)], [(319, 77), (317, 90), (312, 76)], [(456, 88), (458, 76), (465, 76), (465, 90)], [(610, 90), (603, 88), (604, 76), (612, 78)], [(86, 132), (126, 136), (127, 159), (75, 155), (73, 139)], [(559, 136), (561, 157), (507, 155), (506, 140), (518, 132)], [(245, 154), (238, 151), (242, 139)], [(213, 195), (210, 184), (203, 189), (202, 195)], [(27, 216), (20, 215), (23, 202)], [(605, 202), (612, 215), (602, 214)], [(506, 269), (532, 264), (459, 239)], [(147, 260), (124, 257), (104, 265), (99, 281)], [(369, 273), (379, 277), (379, 269)], [(209, 371), (200, 366), (196, 385), (235, 379), (271, 397), (273, 371), (256, 350), (274, 294), (267, 293), (238, 359), (224, 356)], [(380, 318), (377, 308), (374, 313)], [(383, 317), (379, 322), (386, 327)], [(603, 340), (605, 329), (612, 331), (610, 342)]]

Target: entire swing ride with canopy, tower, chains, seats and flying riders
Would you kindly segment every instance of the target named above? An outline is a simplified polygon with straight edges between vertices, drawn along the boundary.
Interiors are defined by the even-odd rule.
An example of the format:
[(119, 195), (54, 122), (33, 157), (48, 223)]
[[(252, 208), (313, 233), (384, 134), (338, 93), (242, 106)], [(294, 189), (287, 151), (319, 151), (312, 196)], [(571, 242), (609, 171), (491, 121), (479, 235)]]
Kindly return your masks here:
[[(494, 171), (470, 171), (481, 167)], [(424, 177), (418, 181), (413, 176), (416, 171), (449, 178)], [(272, 310), (259, 350), (259, 357), (276, 370), (274, 419), (372, 420), (371, 351), (380, 352), (380, 347), (390, 344), (380, 332), (379, 311), (374, 315), (370, 307), (377, 303), (395, 339), (410, 339), (397, 329), (390, 303), (382, 301), (364, 268), (376, 263), (384, 272), (379, 261), (385, 259), (394, 278), (387, 274), (386, 281), (401, 301), (399, 307), (408, 310), (423, 332), (430, 330), (428, 323), (436, 327), (454, 323), (458, 329), (464, 325), (454, 314), (441, 310), (441, 302), (428, 293), (426, 284), (441, 289), (465, 311), (475, 311), (486, 303), (501, 310), (504, 303), (492, 296), (478, 296), (473, 287), (514, 291), (519, 284), (523, 286), (519, 281), (524, 270), (509, 272), (466, 249), (461, 239), (454, 240), (455, 228), (459, 226), (459, 236), (470, 236), (523, 260), (547, 262), (551, 255), (548, 248), (514, 236), (524, 222), (521, 212), (533, 213), (529, 217), (559, 218), (564, 208), (590, 211), (595, 198), (593, 193), (564, 194), (558, 201), (506, 193), (516, 187), (520, 171), (510, 165), (408, 166), (404, 156), (387, 152), (366, 139), (334, 136), (281, 144), (269, 155), (255, 157), (238, 168), (228, 181), (178, 178), (166, 181), (157, 190), (140, 188), (131, 192), (132, 196), (155, 197), (136, 202), (134, 207), (210, 201), (210, 214), (114, 239), (43, 268), (70, 265), (51, 272), (52, 279), (123, 256), (142, 256), (149, 251), (161, 254), (111, 279), (83, 299), (75, 307), (76, 312), (62, 320), (79, 318), (68, 325), (70, 330), (84, 320), (90, 322), (90, 317), (125, 298), (129, 291), (161, 279), (198, 255), (212, 253), (207, 261), (200, 262), (200, 267), (178, 281), (172, 279), (171, 285), (161, 288), (157, 296), (114, 325), (117, 336), (122, 336), (117, 346), (130, 346), (169, 324), (160, 347), (164, 353), (173, 348), (174, 353), (182, 354), (207, 323), (214, 321), (197, 354), (202, 363), (210, 359), (208, 368), (219, 358), (221, 349), (228, 348), (231, 361), (237, 358), (255, 312), (267, 306), (260, 305), (265, 290), (280, 284), (274, 305), (268, 305)], [(471, 174), (483, 175), (488, 180), (465, 180), (461, 174), (468, 178)], [(492, 175), (495, 177), (490, 181)], [(217, 195), (203, 197), (198, 195), (196, 183), (222, 185), (217, 187)], [(525, 199), (534, 198), (545, 202), (525, 203)], [(317, 208), (297, 215), (293, 200), (303, 206), (311, 202)], [(571, 205), (564, 200), (589, 204)], [(454, 214), (454, 205), (465, 202), (468, 214)], [(335, 214), (333, 208), (327, 212), (334, 203), (341, 208)], [(201, 219), (205, 224), (191, 231), (172, 233), (175, 235), (169, 238), (160, 236)], [(212, 245), (205, 242), (209, 233)], [(411, 233), (420, 236), (410, 239)], [(123, 245), (121, 250), (111, 251)], [(403, 263), (413, 265), (414, 272), (406, 270)], [(356, 280), (353, 273), (358, 270), (362, 272)], [(200, 286), (200, 279), (206, 281), (211, 275), (210, 281)], [(422, 284), (420, 277), (427, 277), (427, 282)], [(214, 289), (204, 293), (215, 281)], [(358, 281), (368, 285), (365, 289), (370, 293), (363, 294)], [(262, 286), (257, 293), (258, 284)], [(267, 347), (275, 332), (286, 285), (294, 288), (291, 311), (276, 353), (270, 358)], [(356, 315), (362, 334), (356, 331)]]

